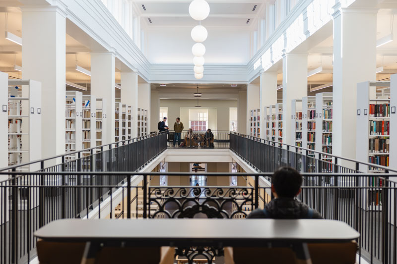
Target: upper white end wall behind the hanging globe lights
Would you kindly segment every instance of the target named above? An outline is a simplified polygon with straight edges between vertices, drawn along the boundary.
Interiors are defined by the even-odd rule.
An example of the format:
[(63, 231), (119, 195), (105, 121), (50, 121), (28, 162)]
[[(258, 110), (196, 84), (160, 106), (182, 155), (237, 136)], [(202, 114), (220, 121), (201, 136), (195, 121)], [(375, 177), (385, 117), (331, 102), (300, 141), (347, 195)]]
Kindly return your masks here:
[[(156, 28), (146, 30), (145, 54), (154, 64), (191, 63), (193, 68), (190, 27)], [(251, 32), (241, 29), (207, 28), (208, 38), (203, 42), (205, 64), (245, 64), (250, 56)]]

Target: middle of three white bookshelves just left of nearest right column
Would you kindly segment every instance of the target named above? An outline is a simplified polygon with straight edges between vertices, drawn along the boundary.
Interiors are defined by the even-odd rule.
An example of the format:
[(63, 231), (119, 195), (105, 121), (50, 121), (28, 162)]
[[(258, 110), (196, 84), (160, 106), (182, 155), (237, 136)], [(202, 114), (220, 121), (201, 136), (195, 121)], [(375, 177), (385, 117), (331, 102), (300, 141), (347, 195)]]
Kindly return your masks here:
[[(302, 147), (310, 150), (316, 149), (316, 97), (305, 96), (302, 98)], [(315, 157), (314, 152), (308, 156)]]

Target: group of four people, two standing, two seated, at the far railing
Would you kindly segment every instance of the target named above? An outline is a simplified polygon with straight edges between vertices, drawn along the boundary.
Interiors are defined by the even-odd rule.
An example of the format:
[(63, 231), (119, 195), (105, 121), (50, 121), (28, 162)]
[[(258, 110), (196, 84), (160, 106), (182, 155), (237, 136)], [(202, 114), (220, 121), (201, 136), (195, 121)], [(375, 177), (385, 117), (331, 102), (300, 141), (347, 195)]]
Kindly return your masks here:
[[(168, 131), (169, 128), (166, 125), (167, 117), (163, 118), (163, 121), (160, 121), (158, 123), (158, 130), (159, 132), (163, 131)], [(176, 142), (178, 140), (178, 146), (181, 146), (181, 133), (184, 129), (183, 123), (181, 122), (181, 118), (177, 117), (176, 122), (174, 123), (174, 141), (173, 141), (173, 146), (175, 147)], [(195, 139), (195, 134), (193, 133), (192, 128), (189, 128), (187, 134), (185, 135), (185, 142), (184, 146), (188, 143), (190, 146), (192, 146), (192, 142)], [(208, 148), (213, 148), (214, 143), (213, 143), (214, 135), (211, 132), (211, 129), (207, 129), (207, 131), (204, 134), (204, 146)]]

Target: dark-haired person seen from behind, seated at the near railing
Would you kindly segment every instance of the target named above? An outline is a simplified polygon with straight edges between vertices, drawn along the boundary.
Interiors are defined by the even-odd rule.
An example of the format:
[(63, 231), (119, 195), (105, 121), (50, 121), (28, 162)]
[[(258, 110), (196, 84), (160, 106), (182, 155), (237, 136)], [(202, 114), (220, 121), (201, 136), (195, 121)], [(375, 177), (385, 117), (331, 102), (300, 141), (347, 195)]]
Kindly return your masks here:
[(293, 168), (281, 167), (271, 177), (271, 192), (275, 199), (265, 209), (256, 209), (247, 218), (299, 219), (317, 218), (322, 215), (295, 197), (301, 192), (302, 175)]

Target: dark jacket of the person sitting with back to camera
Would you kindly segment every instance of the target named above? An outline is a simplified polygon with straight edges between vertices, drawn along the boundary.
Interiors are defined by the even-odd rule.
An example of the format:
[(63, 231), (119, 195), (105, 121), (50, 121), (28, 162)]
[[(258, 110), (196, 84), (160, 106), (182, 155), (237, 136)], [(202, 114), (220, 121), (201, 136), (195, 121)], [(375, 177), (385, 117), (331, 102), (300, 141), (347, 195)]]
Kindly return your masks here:
[(323, 219), (318, 211), (313, 211), (309, 217), (309, 207), (291, 198), (277, 198), (265, 205), (266, 213), (263, 209), (256, 209), (247, 218), (276, 218), (276, 219), (299, 219), (315, 218)]

